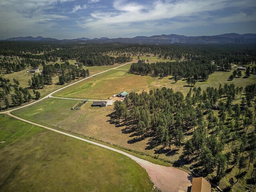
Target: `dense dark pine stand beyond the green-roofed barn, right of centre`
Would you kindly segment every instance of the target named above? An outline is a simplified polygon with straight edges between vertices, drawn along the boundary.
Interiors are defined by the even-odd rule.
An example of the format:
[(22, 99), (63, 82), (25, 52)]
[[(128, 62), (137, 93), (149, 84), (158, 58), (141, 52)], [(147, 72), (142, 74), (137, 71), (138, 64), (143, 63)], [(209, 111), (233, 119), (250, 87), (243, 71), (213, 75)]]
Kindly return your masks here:
[(199, 61), (182, 61), (182, 62), (156, 62), (148, 64), (144, 60), (139, 60), (130, 66), (130, 72), (135, 74), (164, 76), (172, 75), (174, 81), (180, 78), (186, 78), (188, 84), (195, 84), (197, 80), (207, 80), (209, 74), (214, 73), (216, 65), (205, 64), (203, 60)]

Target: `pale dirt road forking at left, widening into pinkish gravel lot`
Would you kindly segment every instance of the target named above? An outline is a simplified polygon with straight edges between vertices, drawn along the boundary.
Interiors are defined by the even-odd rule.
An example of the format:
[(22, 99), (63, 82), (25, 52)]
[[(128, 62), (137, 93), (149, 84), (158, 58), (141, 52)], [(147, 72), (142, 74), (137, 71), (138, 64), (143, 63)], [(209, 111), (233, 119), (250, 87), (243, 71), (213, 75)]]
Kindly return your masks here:
[[(130, 63), (133, 63), (133, 62), (129, 62), (129, 63), (126, 63), (126, 64), (130, 64)], [(109, 69), (109, 70), (113, 70), (113, 69), (116, 69), (118, 67), (121, 67), (121, 66), (124, 66), (126, 64), (122, 64), (120, 66), (117, 66), (115, 68), (112, 68), (112, 69)], [(107, 72), (109, 70), (105, 70), (103, 72), (100, 72), (98, 74), (102, 74), (104, 72)], [(154, 183), (155, 186), (157, 186), (158, 188), (160, 188), (163, 192), (177, 192), (178, 191), (178, 188), (179, 188), (179, 185), (180, 185), (180, 181), (184, 181), (184, 182), (190, 182), (190, 179), (191, 179), (191, 175), (189, 175), (188, 173), (182, 171), (182, 170), (179, 170), (179, 169), (176, 169), (176, 168), (173, 168), (173, 167), (165, 167), (165, 166), (160, 166), (160, 165), (157, 165), (157, 164), (153, 164), (149, 161), (146, 161), (146, 160), (143, 160), (143, 159), (140, 159), (136, 156), (133, 156), (131, 154), (128, 154), (126, 152), (123, 152), (123, 151), (120, 151), (118, 149), (115, 149), (115, 148), (112, 148), (112, 147), (109, 147), (109, 146), (105, 146), (103, 144), (99, 144), (97, 142), (93, 142), (93, 141), (90, 141), (90, 140), (86, 140), (84, 138), (80, 138), (78, 136), (74, 136), (74, 135), (71, 135), (71, 134), (68, 134), (68, 133), (65, 133), (65, 132), (62, 132), (62, 131), (59, 131), (59, 130), (55, 130), (53, 128), (50, 128), (50, 127), (47, 127), (47, 126), (43, 126), (43, 125), (40, 125), (40, 124), (37, 124), (37, 123), (34, 123), (34, 122), (31, 122), (31, 121), (28, 121), (28, 120), (25, 120), (23, 118), (20, 118), (20, 117), (17, 117), (17, 116), (14, 116), (13, 114), (10, 114), (10, 112), (14, 111), (14, 110), (18, 110), (20, 108), (24, 108), (26, 106), (30, 106), (32, 104), (35, 104), (43, 99), (46, 99), (46, 98), (49, 98), (49, 97), (53, 97), (53, 98), (56, 98), (54, 96), (52, 96), (52, 94), (58, 92), (59, 90), (62, 90), (66, 87), (69, 87), (69, 86), (72, 86), (78, 82), (81, 82), (83, 80), (86, 80), (88, 78), (91, 78), (93, 76), (96, 76), (98, 74), (94, 74), (92, 76), (89, 76), (87, 78), (84, 78), (82, 80), (79, 80), (77, 82), (74, 82), (68, 86), (65, 86), (65, 87), (62, 87), (54, 92), (51, 92), (50, 94), (48, 94), (47, 96), (45, 96), (44, 98), (41, 98), (40, 100), (37, 100), (33, 103), (29, 103), (27, 105), (24, 105), (24, 106), (21, 106), (19, 108), (15, 108), (15, 109), (11, 109), (11, 110), (8, 110), (8, 111), (5, 111), (5, 112), (0, 112), (0, 114), (8, 114), (9, 116), (12, 116), (13, 118), (16, 118), (18, 120), (22, 120), (24, 122), (27, 122), (27, 123), (30, 123), (30, 124), (33, 124), (33, 125), (36, 125), (36, 126), (40, 126), (42, 128), (46, 128), (48, 130), (52, 130), (54, 132), (58, 132), (60, 134), (64, 134), (66, 136), (70, 136), (72, 138), (76, 138), (76, 139), (79, 139), (79, 140), (82, 140), (82, 141), (85, 141), (85, 142), (88, 142), (88, 143), (91, 143), (91, 144), (94, 144), (94, 145), (97, 145), (97, 146), (100, 146), (100, 147), (103, 147), (103, 148), (106, 148), (108, 150), (112, 150), (112, 151), (115, 151), (115, 152), (118, 152), (120, 154), (123, 154), (125, 156), (128, 156), (130, 157), (132, 160), (136, 161), (138, 164), (140, 164), (140, 166), (142, 166), (143, 168), (145, 168), (145, 170), (148, 172), (148, 175), (150, 176), (152, 182)], [(63, 98), (62, 98), (63, 99)], [(64, 98), (64, 99), (68, 99), (68, 98)], [(74, 99), (76, 100), (76, 99)]]

